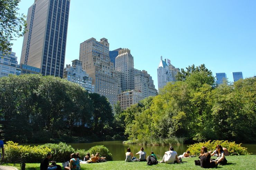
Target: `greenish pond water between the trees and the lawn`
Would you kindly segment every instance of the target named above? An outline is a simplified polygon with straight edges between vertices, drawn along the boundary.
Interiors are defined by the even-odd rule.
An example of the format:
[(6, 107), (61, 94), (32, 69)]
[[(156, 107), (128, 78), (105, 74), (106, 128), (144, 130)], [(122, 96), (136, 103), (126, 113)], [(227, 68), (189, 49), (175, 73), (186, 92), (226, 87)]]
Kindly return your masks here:
[[(23, 145), (39, 145), (39, 144), (23, 144)], [(76, 149), (85, 149), (88, 150), (95, 145), (104, 145), (106, 146), (109, 151), (113, 155), (113, 160), (125, 160), (125, 152), (127, 148), (131, 148), (131, 152), (135, 155), (140, 150), (140, 147), (144, 147), (144, 151), (147, 155), (151, 151), (155, 153), (155, 155), (159, 157), (163, 157), (164, 152), (169, 150), (169, 146), (141, 146), (141, 145), (129, 145), (129, 144), (122, 144), (122, 141), (102, 141), (102, 142), (92, 142), (92, 143), (80, 143), (80, 144), (69, 144), (75, 150)], [(182, 155), (188, 149), (189, 144), (173, 146), (174, 150), (178, 153), (178, 155)], [(248, 148), (248, 151), (253, 155), (256, 155), (256, 145), (255, 144), (242, 144), (243, 147)]]

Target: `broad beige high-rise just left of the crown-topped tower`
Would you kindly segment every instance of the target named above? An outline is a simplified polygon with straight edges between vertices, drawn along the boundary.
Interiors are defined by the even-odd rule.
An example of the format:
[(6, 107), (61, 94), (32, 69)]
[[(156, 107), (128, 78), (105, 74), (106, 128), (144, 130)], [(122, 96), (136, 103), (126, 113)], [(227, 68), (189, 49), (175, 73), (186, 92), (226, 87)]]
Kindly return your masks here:
[(108, 40), (90, 38), (82, 42), (79, 60), (83, 63), (82, 68), (92, 77), (94, 92), (107, 97), (112, 106), (116, 104), (117, 94), (121, 93), (121, 73), (110, 62)]

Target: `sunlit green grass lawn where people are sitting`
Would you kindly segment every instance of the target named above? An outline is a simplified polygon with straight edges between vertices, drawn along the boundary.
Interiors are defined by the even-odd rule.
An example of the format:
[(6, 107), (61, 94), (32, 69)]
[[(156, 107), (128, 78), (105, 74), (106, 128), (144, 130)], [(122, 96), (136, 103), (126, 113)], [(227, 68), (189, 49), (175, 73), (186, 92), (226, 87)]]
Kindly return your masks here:
[[(216, 157), (212, 157), (216, 158)], [(242, 170), (242, 169), (256, 169), (256, 155), (246, 155), (246, 156), (227, 156), (228, 164), (225, 166), (219, 165), (217, 169), (232, 169), (232, 170)], [(141, 169), (175, 169), (175, 170), (187, 170), (187, 169), (203, 169), (200, 166), (195, 166), (194, 160), (198, 158), (183, 158), (182, 161), (186, 161), (180, 164), (166, 164), (158, 163), (157, 165), (147, 166), (146, 162), (125, 162), (125, 161), (107, 161), (102, 163), (90, 163), (81, 164), (81, 170), (141, 170)], [(159, 160), (158, 160), (159, 161)], [(58, 163), (61, 165), (61, 163)], [(27, 163), (26, 170), (40, 170), (39, 163)]]

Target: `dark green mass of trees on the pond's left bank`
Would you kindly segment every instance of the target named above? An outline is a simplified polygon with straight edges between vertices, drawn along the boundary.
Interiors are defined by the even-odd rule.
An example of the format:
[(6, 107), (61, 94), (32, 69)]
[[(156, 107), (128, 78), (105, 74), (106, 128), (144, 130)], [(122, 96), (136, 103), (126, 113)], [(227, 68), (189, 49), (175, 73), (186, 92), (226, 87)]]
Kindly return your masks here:
[[(0, 128), (4, 140), (20, 143), (74, 142), (75, 137), (104, 139), (116, 132), (106, 97), (89, 94), (59, 77), (33, 74), (0, 78)], [(114, 129), (114, 130), (113, 130)]]

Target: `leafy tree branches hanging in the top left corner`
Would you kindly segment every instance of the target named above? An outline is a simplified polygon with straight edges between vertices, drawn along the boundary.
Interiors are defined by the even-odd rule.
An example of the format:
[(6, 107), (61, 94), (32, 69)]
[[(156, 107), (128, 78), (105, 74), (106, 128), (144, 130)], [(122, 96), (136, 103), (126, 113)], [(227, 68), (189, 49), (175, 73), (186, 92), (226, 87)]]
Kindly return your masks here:
[(17, 11), (20, 0), (0, 0), (0, 51), (8, 53), (10, 41), (26, 32), (26, 16)]

